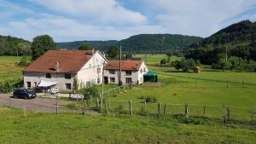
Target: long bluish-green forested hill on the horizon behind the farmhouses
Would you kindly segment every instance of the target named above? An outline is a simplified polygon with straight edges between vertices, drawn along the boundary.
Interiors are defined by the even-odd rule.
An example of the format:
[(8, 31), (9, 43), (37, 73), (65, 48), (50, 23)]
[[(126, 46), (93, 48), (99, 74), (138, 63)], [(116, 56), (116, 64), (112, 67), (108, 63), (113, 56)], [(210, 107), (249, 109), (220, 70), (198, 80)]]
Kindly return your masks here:
[(165, 54), (174, 49), (185, 49), (191, 43), (198, 43), (201, 37), (176, 34), (140, 34), (120, 41), (76, 41), (57, 43), (59, 48), (77, 49), (82, 43), (90, 43), (96, 49), (107, 51), (110, 46), (121, 45), (125, 52)]

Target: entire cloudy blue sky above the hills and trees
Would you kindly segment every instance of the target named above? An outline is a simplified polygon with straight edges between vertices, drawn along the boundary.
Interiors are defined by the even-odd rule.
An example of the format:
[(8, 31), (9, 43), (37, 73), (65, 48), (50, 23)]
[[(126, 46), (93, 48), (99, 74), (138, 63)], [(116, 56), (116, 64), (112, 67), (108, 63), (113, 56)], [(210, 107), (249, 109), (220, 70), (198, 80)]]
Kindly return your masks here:
[(56, 42), (123, 39), (141, 33), (208, 37), (256, 20), (256, 0), (0, 0), (0, 35)]

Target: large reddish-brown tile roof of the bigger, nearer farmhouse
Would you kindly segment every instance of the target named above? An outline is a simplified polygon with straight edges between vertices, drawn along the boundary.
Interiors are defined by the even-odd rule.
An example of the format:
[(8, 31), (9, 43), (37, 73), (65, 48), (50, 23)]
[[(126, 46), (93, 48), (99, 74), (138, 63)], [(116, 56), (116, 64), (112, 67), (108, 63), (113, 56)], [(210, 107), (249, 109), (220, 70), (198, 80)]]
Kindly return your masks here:
[(90, 59), (91, 54), (90, 50), (49, 50), (27, 66), (23, 72), (55, 72), (57, 61), (58, 72), (77, 73)]

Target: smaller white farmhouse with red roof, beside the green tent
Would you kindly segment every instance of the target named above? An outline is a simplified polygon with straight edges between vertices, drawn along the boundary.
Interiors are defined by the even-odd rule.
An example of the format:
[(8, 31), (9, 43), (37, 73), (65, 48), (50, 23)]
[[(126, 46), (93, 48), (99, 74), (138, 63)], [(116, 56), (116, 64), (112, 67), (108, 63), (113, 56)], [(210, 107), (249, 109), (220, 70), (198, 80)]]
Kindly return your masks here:
[[(119, 84), (119, 60), (109, 60), (104, 71), (106, 84)], [(143, 75), (148, 67), (143, 60), (121, 60), (121, 81), (123, 84), (143, 84)]]

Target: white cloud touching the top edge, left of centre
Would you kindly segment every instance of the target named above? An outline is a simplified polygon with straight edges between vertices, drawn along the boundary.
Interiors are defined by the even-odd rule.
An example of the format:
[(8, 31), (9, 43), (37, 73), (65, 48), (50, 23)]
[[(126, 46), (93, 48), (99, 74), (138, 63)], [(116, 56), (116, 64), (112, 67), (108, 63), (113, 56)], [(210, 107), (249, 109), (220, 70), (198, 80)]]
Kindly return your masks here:
[(88, 20), (99, 20), (104, 24), (143, 24), (147, 22), (147, 17), (143, 14), (125, 9), (115, 0), (30, 0), (30, 2), (38, 3), (62, 14), (90, 18)]

